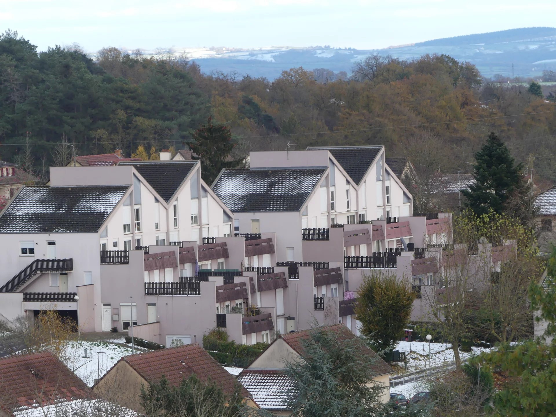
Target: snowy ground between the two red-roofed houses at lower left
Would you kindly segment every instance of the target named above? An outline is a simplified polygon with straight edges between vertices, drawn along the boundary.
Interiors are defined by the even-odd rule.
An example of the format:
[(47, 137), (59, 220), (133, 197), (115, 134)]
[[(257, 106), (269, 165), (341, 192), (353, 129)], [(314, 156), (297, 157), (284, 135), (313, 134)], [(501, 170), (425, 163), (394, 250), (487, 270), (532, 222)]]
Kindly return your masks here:
[[(84, 358), (87, 349), (88, 358)], [(104, 353), (99, 353), (104, 352)], [(122, 356), (131, 355), (131, 349), (108, 342), (67, 342), (62, 361), (88, 386), (101, 378)]]

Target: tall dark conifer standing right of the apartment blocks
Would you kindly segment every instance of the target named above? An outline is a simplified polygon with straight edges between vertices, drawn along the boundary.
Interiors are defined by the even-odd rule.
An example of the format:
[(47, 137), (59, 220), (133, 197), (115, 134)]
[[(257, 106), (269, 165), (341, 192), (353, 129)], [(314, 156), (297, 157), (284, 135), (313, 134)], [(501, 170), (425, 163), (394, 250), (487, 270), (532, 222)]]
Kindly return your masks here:
[(465, 205), (477, 215), (490, 209), (498, 214), (505, 210), (505, 203), (523, 186), (523, 164), (516, 165), (507, 146), (491, 132), (481, 150), (475, 155), (474, 183), (469, 190), (461, 190)]

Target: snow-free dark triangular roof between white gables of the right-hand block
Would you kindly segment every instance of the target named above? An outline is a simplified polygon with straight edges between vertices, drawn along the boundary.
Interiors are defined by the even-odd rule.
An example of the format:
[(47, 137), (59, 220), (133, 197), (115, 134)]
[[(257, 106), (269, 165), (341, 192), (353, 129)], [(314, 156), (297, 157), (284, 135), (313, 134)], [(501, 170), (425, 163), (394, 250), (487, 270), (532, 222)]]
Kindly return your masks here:
[(382, 146), (310, 146), (307, 150), (327, 150), (344, 168), (347, 175), (359, 185)]

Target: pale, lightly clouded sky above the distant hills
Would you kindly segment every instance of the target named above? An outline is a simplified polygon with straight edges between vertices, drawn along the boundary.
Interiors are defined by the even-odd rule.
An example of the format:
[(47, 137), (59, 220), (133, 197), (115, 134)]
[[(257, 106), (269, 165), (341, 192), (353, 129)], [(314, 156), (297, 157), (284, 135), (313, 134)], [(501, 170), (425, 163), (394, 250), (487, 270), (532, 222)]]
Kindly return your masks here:
[(7, 28), (38, 46), (314, 46), (360, 49), (530, 26), (556, 26), (556, 1), (0, 0)]

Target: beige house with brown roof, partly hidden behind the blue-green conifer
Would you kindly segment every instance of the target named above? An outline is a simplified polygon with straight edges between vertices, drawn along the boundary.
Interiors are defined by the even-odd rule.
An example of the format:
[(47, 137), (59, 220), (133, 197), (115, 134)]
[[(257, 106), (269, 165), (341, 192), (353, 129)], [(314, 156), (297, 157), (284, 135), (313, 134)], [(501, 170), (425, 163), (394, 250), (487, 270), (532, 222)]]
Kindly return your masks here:
[[(337, 332), (342, 340), (356, 338), (343, 324), (326, 328)], [(291, 410), (284, 405), (284, 400), (288, 391), (294, 387), (294, 382), (284, 372), (285, 363), (302, 357), (302, 340), (307, 339), (309, 335), (310, 330), (279, 335), (262, 355), (238, 376), (240, 383), (249, 390), (260, 408), (274, 415), (291, 414)], [(368, 346), (361, 344), (361, 351), (376, 358), (373, 365), (373, 381), (384, 388), (381, 401), (386, 403), (390, 399), (390, 374), (393, 373), (393, 369)]]

